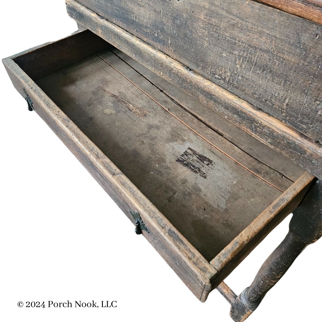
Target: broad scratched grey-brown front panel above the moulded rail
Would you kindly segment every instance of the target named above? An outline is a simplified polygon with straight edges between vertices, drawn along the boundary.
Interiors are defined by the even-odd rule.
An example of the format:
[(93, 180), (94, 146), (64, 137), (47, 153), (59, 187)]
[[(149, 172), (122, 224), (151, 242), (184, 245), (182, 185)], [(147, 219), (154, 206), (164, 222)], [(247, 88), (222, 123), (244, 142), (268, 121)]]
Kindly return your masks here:
[(321, 25), (243, 0), (78, 2), (322, 141)]

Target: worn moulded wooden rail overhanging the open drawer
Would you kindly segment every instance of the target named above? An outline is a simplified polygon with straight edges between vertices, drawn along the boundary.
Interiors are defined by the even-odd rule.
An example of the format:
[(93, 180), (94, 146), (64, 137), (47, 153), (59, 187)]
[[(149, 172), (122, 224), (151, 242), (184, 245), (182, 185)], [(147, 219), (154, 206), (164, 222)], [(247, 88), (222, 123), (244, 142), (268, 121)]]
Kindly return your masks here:
[(222, 114), (251, 136), (291, 158), (317, 177), (322, 177), (322, 148), (318, 142), (289, 128), (77, 2), (67, 0), (66, 5), (71, 17), (82, 25)]

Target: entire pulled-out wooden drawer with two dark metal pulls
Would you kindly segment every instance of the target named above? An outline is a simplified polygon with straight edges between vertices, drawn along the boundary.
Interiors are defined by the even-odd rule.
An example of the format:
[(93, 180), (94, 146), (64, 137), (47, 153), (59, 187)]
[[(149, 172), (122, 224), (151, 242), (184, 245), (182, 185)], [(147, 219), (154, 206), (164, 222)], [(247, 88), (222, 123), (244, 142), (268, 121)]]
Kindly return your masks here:
[(314, 183), (88, 30), (3, 62), (29, 108), (201, 301)]

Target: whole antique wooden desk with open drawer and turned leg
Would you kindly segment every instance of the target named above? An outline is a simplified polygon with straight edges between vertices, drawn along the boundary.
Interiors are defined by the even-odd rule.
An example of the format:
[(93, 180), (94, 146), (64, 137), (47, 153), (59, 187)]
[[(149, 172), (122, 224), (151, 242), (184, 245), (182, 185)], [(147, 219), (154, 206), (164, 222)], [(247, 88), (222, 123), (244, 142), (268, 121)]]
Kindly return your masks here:
[[(11, 81), (194, 295), (218, 288), (243, 321), (322, 233), (321, 1), (66, 6), (81, 29), (5, 58)], [(291, 212), (237, 297), (223, 279)]]

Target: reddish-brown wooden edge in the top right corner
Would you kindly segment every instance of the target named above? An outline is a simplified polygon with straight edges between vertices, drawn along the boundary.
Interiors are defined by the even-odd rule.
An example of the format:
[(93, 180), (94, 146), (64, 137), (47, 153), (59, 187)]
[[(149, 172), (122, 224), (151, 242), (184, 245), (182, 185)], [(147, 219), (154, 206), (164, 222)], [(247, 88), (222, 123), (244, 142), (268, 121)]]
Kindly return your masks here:
[(255, 0), (265, 5), (322, 24), (321, 0)]

